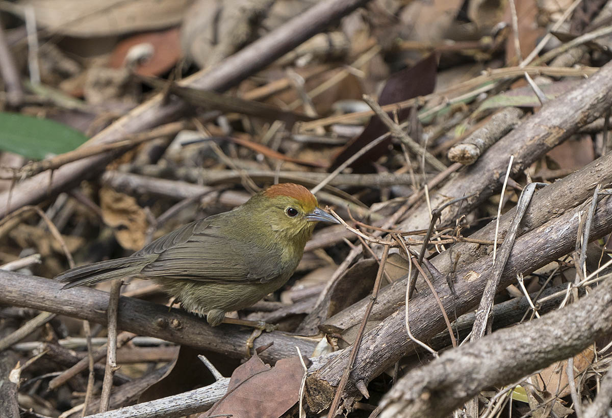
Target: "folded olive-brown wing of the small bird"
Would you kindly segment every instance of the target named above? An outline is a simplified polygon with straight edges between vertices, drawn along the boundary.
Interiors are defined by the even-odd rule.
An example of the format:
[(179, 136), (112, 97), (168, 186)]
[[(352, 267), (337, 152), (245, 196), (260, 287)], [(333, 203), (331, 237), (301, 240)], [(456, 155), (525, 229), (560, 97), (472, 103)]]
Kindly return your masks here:
[(278, 277), (280, 256), (223, 234), (224, 222), (218, 216), (192, 222), (147, 245), (135, 255), (159, 256), (140, 275), (216, 283), (263, 283)]

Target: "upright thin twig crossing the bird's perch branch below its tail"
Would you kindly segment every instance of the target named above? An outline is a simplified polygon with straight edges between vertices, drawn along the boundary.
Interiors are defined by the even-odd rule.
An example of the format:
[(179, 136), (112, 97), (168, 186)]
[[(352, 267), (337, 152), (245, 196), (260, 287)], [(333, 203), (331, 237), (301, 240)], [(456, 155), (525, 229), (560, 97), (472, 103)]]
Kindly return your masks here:
[(115, 279), (108, 295), (108, 345), (106, 346), (106, 368), (102, 382), (102, 395), (100, 396), (100, 412), (108, 411), (113, 388), (113, 375), (117, 367), (117, 318), (119, 310), (119, 293), (121, 293), (122, 280)]

